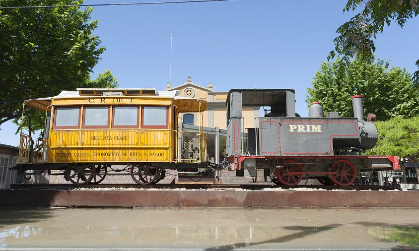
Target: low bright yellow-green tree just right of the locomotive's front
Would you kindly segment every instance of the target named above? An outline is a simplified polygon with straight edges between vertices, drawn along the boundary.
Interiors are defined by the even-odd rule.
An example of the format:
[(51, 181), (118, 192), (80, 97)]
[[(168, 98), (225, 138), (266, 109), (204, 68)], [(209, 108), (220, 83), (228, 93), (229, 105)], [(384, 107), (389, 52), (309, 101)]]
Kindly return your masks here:
[[(419, 118), (395, 117), (376, 123), (377, 145), (367, 151), (369, 155), (397, 155), (407, 159), (419, 175)], [(406, 164), (403, 162), (403, 164)], [(404, 171), (404, 170), (403, 170)], [(405, 173), (405, 172), (404, 172)]]

